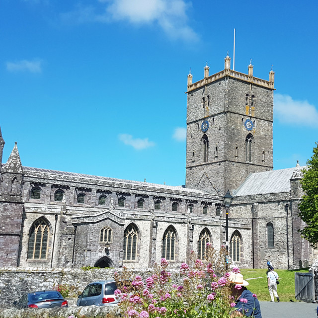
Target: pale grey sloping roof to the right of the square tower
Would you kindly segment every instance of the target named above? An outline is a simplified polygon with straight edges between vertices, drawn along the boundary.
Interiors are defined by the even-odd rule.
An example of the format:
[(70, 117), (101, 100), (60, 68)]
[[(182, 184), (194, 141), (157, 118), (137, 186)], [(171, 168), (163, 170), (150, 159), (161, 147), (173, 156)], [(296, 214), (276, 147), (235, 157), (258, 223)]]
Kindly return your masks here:
[(295, 169), (304, 169), (299, 164), (295, 168), (250, 173), (234, 192), (234, 196), (290, 192), (290, 179)]

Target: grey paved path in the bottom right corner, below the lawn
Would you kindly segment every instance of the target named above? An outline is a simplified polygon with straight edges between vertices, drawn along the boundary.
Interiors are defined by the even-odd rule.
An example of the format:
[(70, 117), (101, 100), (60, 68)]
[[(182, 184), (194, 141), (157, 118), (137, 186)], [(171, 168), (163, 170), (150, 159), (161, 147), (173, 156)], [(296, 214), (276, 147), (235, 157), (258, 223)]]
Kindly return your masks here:
[(259, 302), (262, 318), (317, 318), (317, 305), (302, 302)]

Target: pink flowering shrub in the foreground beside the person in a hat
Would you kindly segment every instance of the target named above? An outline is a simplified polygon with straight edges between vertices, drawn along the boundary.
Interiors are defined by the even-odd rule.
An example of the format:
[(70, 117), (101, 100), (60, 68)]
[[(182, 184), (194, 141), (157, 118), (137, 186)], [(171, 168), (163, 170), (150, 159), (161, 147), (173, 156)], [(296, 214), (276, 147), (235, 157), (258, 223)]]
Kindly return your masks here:
[[(115, 273), (119, 289), (116, 297), (121, 301), (120, 310), (125, 318), (229, 318), (235, 311), (235, 298), (231, 293), (233, 284), (228, 280), (227, 252), (223, 246), (217, 254), (212, 244), (207, 244), (206, 259), (203, 263), (191, 251), (189, 264), (180, 266), (180, 286), (171, 283), (168, 262), (162, 258), (155, 264), (153, 274), (144, 283), (136, 276), (131, 286), (123, 286), (131, 273), (127, 268)], [(214, 259), (214, 262), (212, 260)], [(239, 273), (238, 268), (233, 272)], [(126, 284), (127, 285), (127, 284)], [(237, 287), (238, 286), (238, 287)], [(241, 288), (236, 285), (237, 289)], [(256, 298), (256, 295), (254, 296)], [(240, 299), (242, 305), (246, 299)], [(241, 311), (244, 315), (244, 308)], [(239, 314), (239, 313), (238, 313)], [(235, 315), (236, 316), (236, 315)], [(253, 317), (253, 316), (250, 316)]]

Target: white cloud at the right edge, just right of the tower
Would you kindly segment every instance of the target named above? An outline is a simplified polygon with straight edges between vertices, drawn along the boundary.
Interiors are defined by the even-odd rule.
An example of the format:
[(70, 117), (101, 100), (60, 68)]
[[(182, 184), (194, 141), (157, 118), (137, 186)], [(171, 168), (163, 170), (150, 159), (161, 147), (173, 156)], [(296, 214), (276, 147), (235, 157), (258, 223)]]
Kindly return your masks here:
[(274, 111), (280, 122), (317, 127), (318, 111), (307, 100), (294, 100), (289, 95), (274, 94)]

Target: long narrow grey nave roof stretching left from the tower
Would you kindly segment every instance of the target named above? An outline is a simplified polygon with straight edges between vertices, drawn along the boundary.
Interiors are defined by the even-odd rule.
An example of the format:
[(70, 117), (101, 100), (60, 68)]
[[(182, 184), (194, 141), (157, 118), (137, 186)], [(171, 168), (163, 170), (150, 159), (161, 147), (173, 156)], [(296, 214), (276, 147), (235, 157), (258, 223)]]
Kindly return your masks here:
[[(96, 175), (89, 175), (89, 174), (82, 174), (82, 173), (75, 173), (75, 172), (64, 172), (64, 171), (57, 171), (57, 170), (49, 170), (49, 169), (41, 169), (41, 168), (32, 168), (32, 167), (23, 167), (24, 173), (27, 176), (39, 176), (39, 174), (45, 174), (47, 178), (54, 178), (55, 176), (62, 176), (62, 177), (73, 177), (79, 179), (90, 179), (90, 180), (98, 180), (98, 181), (108, 181), (116, 184), (127, 184), (127, 185), (137, 185), (140, 187), (151, 187), (154, 189), (166, 189), (166, 190), (174, 190), (180, 191), (184, 193), (197, 193), (197, 194), (211, 194), (209, 192), (198, 190), (198, 189), (190, 189), (185, 188), (183, 186), (172, 186), (166, 184), (156, 184), (156, 183), (149, 183), (149, 182), (142, 182), (142, 181), (132, 181), (132, 180), (124, 180), (124, 179), (116, 179), (116, 178), (109, 178), (103, 176), (96, 176)], [(81, 180), (81, 182), (83, 182)]]

